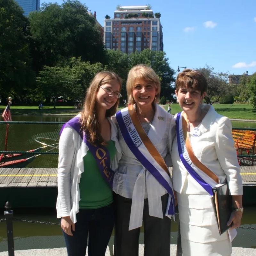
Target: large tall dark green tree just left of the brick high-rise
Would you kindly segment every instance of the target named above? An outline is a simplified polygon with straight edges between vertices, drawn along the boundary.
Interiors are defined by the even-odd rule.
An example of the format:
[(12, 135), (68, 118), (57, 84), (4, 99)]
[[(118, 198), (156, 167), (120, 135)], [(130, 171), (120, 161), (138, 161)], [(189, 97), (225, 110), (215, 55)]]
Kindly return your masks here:
[(88, 8), (78, 0), (65, 0), (61, 5), (44, 3), (40, 12), (30, 13), (29, 21), (37, 71), (70, 57), (105, 62), (100, 29)]

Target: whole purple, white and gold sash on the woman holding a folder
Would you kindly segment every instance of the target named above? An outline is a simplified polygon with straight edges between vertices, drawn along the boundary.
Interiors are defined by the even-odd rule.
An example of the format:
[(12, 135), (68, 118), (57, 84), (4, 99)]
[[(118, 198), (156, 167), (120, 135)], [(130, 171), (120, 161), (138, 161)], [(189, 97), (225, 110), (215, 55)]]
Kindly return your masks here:
[(188, 121), (185, 114), (178, 113), (176, 116), (176, 138), (182, 164), (198, 184), (212, 196), (212, 188), (219, 183), (219, 178), (195, 156), (188, 136)]

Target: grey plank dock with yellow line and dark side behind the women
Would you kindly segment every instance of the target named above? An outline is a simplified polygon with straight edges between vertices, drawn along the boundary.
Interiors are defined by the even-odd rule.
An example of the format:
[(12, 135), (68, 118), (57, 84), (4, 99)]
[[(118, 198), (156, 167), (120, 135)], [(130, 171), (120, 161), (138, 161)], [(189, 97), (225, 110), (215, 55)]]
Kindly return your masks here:
[[(255, 206), (256, 166), (241, 166), (241, 176), (244, 206)], [(57, 194), (57, 168), (0, 168), (0, 208), (55, 208)]]

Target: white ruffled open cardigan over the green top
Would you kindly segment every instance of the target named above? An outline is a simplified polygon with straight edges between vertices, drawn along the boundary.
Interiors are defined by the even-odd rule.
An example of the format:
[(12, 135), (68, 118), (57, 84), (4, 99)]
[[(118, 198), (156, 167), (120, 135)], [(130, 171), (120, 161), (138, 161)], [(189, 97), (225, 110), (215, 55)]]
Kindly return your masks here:
[[(79, 116), (79, 115), (78, 115)], [(115, 171), (121, 158), (121, 149), (117, 140), (116, 125), (111, 124), (111, 140), (115, 142), (116, 155), (111, 161), (111, 169)], [(60, 135), (58, 164), (58, 198), (57, 217), (70, 216), (76, 223), (76, 213), (79, 212), (79, 182), (84, 172), (84, 156), (89, 148), (80, 135), (71, 127), (65, 127)]]

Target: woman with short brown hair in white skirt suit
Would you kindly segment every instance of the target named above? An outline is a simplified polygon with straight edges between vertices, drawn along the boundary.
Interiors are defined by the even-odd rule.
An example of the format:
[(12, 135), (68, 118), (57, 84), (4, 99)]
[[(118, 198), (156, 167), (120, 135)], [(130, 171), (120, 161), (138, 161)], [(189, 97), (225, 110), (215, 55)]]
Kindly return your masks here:
[(190, 172), (193, 161), (188, 156), (185, 137), (190, 140), (193, 156), (216, 174), (220, 183), (227, 180), (234, 205), (229, 219), (231, 229), (240, 226), (243, 212), (242, 179), (232, 126), (229, 119), (219, 115), (211, 105), (202, 104), (206, 90), (205, 77), (196, 70), (185, 69), (177, 77), (175, 93), (183, 112), (175, 116), (172, 181), (177, 192), (183, 256), (227, 256), (232, 252), (228, 232), (219, 235), (211, 196), (205, 185), (211, 179), (200, 174), (200, 169), (197, 169), (199, 176), (193, 170)]

